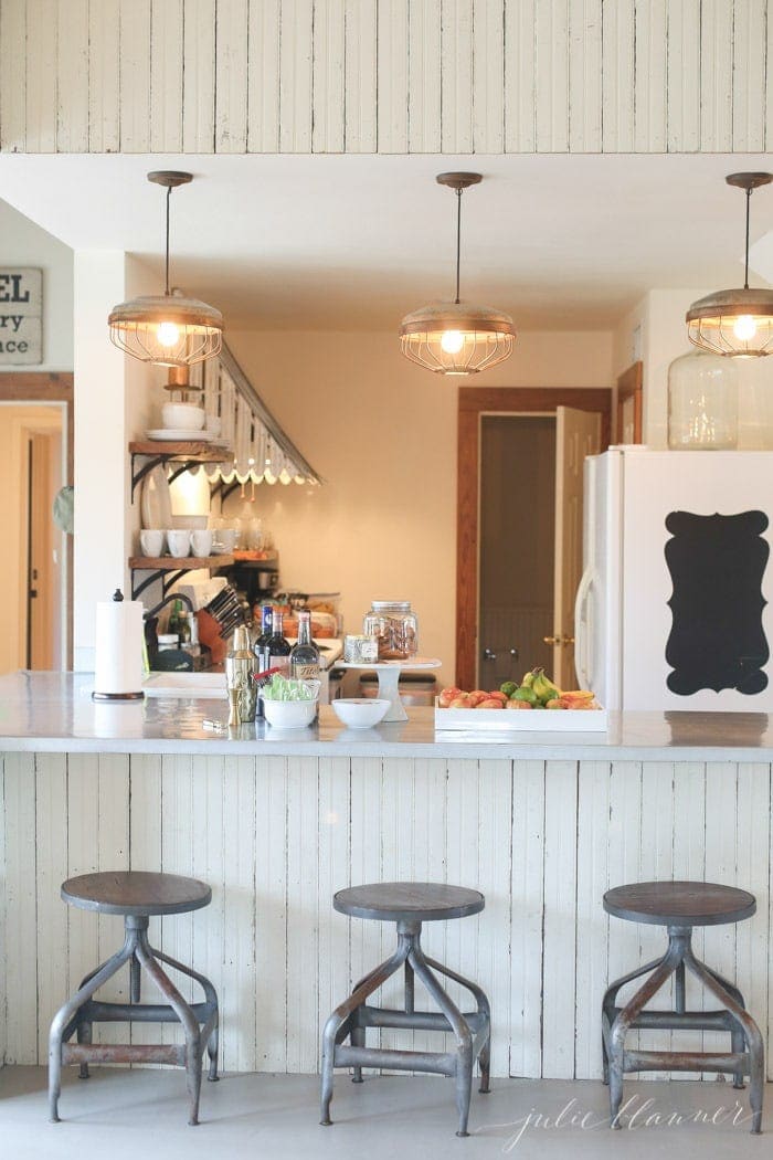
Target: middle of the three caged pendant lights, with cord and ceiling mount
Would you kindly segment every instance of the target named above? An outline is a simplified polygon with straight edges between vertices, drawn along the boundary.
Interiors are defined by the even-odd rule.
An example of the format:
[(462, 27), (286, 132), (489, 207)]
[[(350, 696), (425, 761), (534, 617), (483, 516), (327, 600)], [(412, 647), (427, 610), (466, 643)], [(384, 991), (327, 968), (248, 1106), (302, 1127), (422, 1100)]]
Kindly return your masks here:
[(474, 375), (510, 356), (516, 328), (509, 314), (459, 300), (461, 194), (482, 181), (480, 173), (439, 173), (442, 186), (457, 191), (457, 296), (406, 314), (400, 324), (403, 355), (438, 375)]

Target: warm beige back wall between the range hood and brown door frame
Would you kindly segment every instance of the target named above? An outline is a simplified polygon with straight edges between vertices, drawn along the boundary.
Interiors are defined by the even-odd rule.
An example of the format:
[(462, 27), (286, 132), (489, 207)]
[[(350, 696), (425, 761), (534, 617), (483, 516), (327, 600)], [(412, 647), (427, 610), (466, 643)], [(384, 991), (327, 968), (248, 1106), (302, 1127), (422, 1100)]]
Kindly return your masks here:
[[(228, 512), (275, 532), (282, 580), (341, 590), (358, 631), (372, 599), (409, 599), (421, 651), (455, 659), (457, 392), (402, 357), (385, 333), (228, 332), (247, 375), (323, 476), (323, 487), (260, 485)], [(465, 385), (469, 380), (464, 380)], [(480, 386), (610, 386), (612, 334), (519, 336)], [(247, 495), (250, 488), (247, 487)]]

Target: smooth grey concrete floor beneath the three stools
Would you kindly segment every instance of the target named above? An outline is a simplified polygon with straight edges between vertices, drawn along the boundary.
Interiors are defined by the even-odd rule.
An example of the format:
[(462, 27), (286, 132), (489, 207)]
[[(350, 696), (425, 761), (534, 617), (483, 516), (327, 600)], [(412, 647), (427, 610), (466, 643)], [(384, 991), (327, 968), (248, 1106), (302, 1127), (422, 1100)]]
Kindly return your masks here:
[[(319, 1085), (305, 1075), (227, 1075), (204, 1082), (202, 1123), (188, 1128), (181, 1073), (67, 1068), (63, 1122), (50, 1124), (46, 1073), (0, 1071), (0, 1154), (9, 1160), (82, 1160), (137, 1154), (163, 1160), (433, 1160), (523, 1157), (550, 1160), (724, 1160), (773, 1155), (773, 1090), (767, 1134), (750, 1137), (745, 1093), (729, 1083), (626, 1085), (623, 1130), (608, 1128), (606, 1089), (596, 1082), (498, 1080), (473, 1095), (471, 1137), (457, 1139), (453, 1089), (432, 1076), (336, 1080), (333, 1128), (318, 1124)], [(739, 1100), (737, 1100), (739, 1097)]]

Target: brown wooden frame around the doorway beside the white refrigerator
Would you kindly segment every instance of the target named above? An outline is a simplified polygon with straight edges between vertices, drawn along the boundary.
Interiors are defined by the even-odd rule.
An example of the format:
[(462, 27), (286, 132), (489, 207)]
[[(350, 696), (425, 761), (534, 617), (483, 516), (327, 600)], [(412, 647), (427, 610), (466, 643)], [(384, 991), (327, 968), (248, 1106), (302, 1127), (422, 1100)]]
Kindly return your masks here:
[(462, 386), (457, 444), (457, 675), (461, 689), (475, 682), (477, 572), (480, 550), (480, 430), (483, 414), (555, 412), (556, 407), (598, 411), (601, 450), (612, 432), (611, 387)]

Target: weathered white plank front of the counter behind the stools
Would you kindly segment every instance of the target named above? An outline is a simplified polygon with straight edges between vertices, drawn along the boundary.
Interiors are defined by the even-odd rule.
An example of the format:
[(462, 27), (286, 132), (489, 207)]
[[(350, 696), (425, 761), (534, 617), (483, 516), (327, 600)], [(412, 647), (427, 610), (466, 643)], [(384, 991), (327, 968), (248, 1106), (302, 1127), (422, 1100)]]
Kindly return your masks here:
[[(664, 941), (604, 914), (601, 894), (623, 882), (684, 877), (754, 892), (752, 920), (699, 933), (697, 947), (737, 978), (768, 1034), (767, 763), (17, 753), (3, 759), (2, 803), (8, 1064), (45, 1061), (52, 1014), (121, 943), (121, 919), (59, 899), (66, 877), (115, 868), (212, 885), (210, 907), (154, 919), (151, 931), (218, 987), (226, 1071), (318, 1070), (326, 1016), (394, 942), (391, 926), (336, 914), (333, 894), (404, 878), (486, 894), (481, 915), (430, 923), (424, 943), (487, 988), (495, 1075), (600, 1075), (606, 981)], [(126, 983), (111, 995), (125, 1000)], [(393, 980), (386, 999), (396, 998)], [(123, 1031), (99, 1027), (105, 1039)], [(175, 1029), (131, 1034), (158, 1042)], [(424, 1031), (381, 1035), (437, 1044)], [(648, 1037), (665, 1047), (700, 1038)], [(702, 1042), (716, 1050), (719, 1037)]]

